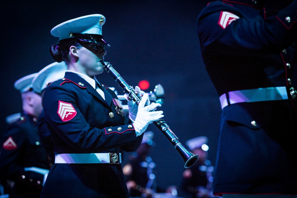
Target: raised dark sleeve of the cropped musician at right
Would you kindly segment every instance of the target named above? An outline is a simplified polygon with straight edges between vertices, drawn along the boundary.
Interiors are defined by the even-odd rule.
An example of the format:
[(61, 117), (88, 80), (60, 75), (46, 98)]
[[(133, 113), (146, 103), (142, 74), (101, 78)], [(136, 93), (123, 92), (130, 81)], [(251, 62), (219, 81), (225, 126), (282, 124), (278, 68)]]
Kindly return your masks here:
[(296, 10), (294, 1), (277, 16), (265, 20), (259, 10), (259, 15), (251, 20), (231, 5), (211, 2), (198, 16), (201, 48), (211, 53), (242, 56), (279, 53), (297, 41)]

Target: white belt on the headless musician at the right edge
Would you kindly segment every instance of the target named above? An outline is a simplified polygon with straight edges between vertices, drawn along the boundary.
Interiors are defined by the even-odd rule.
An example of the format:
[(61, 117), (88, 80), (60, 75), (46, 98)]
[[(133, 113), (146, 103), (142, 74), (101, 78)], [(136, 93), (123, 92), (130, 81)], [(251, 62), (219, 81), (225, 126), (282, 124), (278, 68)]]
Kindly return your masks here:
[[(239, 102), (261, 102), (288, 99), (286, 87), (267, 87), (229, 91), (228, 96), (229, 104), (235, 104)], [(228, 106), (228, 99), (226, 94), (222, 94), (219, 98), (222, 109)]]

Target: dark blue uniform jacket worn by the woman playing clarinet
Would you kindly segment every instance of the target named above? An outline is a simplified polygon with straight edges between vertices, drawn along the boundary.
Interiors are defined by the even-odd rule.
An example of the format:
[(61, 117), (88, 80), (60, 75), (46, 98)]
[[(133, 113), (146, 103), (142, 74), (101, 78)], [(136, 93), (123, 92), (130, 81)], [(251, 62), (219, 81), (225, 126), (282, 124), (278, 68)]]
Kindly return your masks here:
[[(66, 72), (45, 90), (43, 107), (55, 154), (135, 151), (136, 137), (129, 118), (116, 113), (116, 94), (103, 88), (105, 100), (83, 78)], [(60, 102), (75, 109), (72, 119), (59, 115)], [(113, 113), (113, 117), (110, 116)], [(73, 115), (75, 116), (73, 117)], [(121, 129), (119, 129), (121, 127)], [(110, 130), (108, 130), (110, 129)], [(128, 197), (121, 164), (54, 164), (41, 197)]]

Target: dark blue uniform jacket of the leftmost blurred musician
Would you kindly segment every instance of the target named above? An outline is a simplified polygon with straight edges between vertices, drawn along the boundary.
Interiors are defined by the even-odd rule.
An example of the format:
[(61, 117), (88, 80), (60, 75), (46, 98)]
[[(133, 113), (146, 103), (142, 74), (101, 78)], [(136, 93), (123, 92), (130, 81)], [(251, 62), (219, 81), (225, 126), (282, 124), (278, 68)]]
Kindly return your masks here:
[(1, 181), (15, 182), (10, 197), (40, 197), (44, 175), (24, 168), (50, 169), (33, 119), (23, 113), (18, 121), (8, 126), (1, 141)]

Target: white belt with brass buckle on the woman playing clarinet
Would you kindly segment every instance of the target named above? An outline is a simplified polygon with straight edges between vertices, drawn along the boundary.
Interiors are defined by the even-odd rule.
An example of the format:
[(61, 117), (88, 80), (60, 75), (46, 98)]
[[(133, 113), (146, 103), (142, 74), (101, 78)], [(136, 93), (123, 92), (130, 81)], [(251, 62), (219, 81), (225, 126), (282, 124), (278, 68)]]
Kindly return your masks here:
[(119, 164), (121, 153), (61, 153), (55, 155), (56, 164)]

